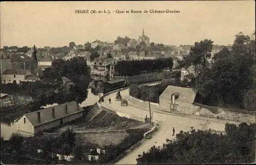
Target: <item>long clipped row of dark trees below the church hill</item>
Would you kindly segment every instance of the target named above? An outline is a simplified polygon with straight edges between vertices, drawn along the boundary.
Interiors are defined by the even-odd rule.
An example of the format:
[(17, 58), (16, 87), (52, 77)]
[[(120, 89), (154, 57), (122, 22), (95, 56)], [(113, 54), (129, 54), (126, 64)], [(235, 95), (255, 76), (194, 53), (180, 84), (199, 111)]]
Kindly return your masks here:
[(115, 70), (118, 75), (133, 76), (143, 72), (154, 72), (173, 67), (173, 59), (118, 61)]

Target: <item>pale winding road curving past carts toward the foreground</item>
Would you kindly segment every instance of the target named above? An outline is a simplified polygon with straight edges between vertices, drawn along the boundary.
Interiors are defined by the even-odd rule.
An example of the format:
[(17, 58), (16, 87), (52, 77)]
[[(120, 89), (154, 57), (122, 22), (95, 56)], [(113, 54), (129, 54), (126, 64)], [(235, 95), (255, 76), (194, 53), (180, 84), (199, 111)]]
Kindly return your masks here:
[[(145, 118), (147, 115), (150, 116), (149, 111), (145, 111), (143, 109), (136, 108), (134, 106), (121, 106), (120, 101), (116, 101), (116, 93), (112, 93), (105, 97), (105, 101), (100, 103), (101, 106), (105, 108), (109, 108), (116, 112), (121, 112), (125, 114), (130, 114), (132, 116), (138, 118)], [(121, 91), (121, 95), (123, 98), (129, 96), (129, 89)], [(108, 99), (111, 98), (112, 103), (110, 104)], [(128, 102), (129, 104), (129, 102)], [(173, 116), (168, 114), (161, 114), (154, 112), (153, 120), (156, 120), (159, 123), (159, 129), (156, 133), (153, 134), (152, 139), (145, 140), (138, 148), (134, 149), (132, 152), (127, 154), (124, 158), (119, 160), (116, 164), (136, 164), (136, 158), (139, 154), (142, 154), (143, 151), (149, 150), (152, 146), (160, 146), (166, 143), (166, 139), (175, 139), (173, 134), (173, 127), (175, 128), (175, 133), (179, 133), (180, 130), (189, 131), (194, 127), (195, 129), (201, 129), (201, 123), (204, 123), (204, 120), (200, 119), (191, 119), (187, 117)], [(229, 122), (232, 123), (232, 122)], [(215, 130), (225, 130), (225, 124), (219, 122), (210, 122), (209, 127)]]

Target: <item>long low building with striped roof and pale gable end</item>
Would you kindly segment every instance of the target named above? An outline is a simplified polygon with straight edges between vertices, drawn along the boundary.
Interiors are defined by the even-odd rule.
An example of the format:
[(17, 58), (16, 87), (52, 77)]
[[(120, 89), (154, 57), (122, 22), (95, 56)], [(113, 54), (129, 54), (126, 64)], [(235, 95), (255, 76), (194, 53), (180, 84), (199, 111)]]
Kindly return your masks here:
[(25, 136), (33, 136), (62, 126), (83, 115), (83, 108), (75, 101), (51, 106), (22, 115), (16, 120), (17, 131)]

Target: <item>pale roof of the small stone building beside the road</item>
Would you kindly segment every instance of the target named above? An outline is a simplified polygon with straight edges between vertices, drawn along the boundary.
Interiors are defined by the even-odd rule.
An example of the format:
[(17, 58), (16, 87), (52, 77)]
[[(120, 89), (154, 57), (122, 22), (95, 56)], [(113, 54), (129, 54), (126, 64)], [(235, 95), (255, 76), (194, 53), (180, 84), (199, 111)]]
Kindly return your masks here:
[(192, 88), (168, 86), (159, 98), (172, 100), (172, 94), (174, 93), (179, 93), (179, 97), (176, 100), (181, 102), (193, 103), (196, 97), (196, 93)]

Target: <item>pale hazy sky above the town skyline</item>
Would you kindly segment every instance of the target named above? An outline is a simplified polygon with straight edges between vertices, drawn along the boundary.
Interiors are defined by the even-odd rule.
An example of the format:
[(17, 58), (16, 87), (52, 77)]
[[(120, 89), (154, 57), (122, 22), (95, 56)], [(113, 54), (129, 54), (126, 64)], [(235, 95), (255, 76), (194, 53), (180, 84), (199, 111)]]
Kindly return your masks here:
[[(164, 45), (192, 45), (204, 39), (227, 45), (239, 32), (250, 35), (255, 30), (254, 9), (254, 1), (1, 2), (1, 47), (57, 47), (96, 39), (114, 42), (118, 36), (138, 39), (142, 29), (150, 42)], [(111, 13), (78, 14), (75, 10)], [(130, 13), (117, 14), (116, 10)]]

